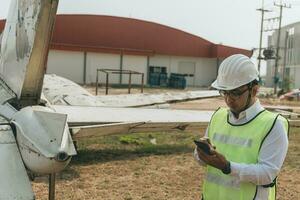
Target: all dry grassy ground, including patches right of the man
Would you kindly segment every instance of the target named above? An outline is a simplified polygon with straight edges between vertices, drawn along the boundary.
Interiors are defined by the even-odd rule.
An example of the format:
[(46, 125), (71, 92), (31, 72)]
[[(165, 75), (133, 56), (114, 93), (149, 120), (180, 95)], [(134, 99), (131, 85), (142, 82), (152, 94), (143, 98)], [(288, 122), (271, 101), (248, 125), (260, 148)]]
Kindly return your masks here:
[[(269, 100), (262, 102), (272, 104)], [(225, 106), (222, 98), (211, 98), (174, 104), (172, 108), (213, 110), (220, 106)], [(300, 128), (293, 128), (289, 136), (289, 152), (278, 178), (279, 200), (300, 199), (299, 132)], [(57, 175), (56, 199), (200, 199), (203, 168), (193, 159), (193, 145), (184, 144), (180, 148), (176, 146), (181, 145), (180, 141), (198, 137), (198, 134), (168, 133), (166, 136), (166, 140), (170, 140), (170, 146), (157, 146), (157, 151), (140, 152), (135, 147), (119, 148), (111, 146), (110, 143), (113, 142), (105, 143), (101, 139), (93, 142), (94, 144), (83, 144), (78, 157)], [(48, 198), (45, 177), (37, 178), (33, 182), (33, 189), (36, 199)]]

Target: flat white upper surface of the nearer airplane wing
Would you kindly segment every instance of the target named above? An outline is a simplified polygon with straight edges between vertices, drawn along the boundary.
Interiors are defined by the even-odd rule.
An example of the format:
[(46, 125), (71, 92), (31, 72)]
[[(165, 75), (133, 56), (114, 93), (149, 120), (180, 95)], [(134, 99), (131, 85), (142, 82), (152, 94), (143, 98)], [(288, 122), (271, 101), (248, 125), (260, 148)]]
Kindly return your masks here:
[(68, 115), (68, 124), (96, 125), (121, 122), (201, 123), (209, 122), (213, 111), (165, 110), (143, 108), (105, 108), (52, 105), (55, 112)]

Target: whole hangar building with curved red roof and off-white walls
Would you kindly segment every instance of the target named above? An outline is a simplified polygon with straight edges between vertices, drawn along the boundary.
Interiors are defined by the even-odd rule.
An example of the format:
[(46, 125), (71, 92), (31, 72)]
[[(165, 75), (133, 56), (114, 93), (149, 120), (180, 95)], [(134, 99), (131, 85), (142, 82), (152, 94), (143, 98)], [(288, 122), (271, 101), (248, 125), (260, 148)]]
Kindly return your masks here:
[[(5, 20), (0, 20), (0, 33)], [(196, 35), (153, 22), (101, 15), (58, 15), (48, 57), (47, 73), (80, 84), (96, 81), (97, 69), (185, 74), (187, 85), (209, 86), (227, 56), (252, 52), (214, 44)], [(104, 74), (100, 82), (104, 82)], [(110, 83), (128, 82), (115, 74)], [(140, 84), (140, 76), (132, 77)]]

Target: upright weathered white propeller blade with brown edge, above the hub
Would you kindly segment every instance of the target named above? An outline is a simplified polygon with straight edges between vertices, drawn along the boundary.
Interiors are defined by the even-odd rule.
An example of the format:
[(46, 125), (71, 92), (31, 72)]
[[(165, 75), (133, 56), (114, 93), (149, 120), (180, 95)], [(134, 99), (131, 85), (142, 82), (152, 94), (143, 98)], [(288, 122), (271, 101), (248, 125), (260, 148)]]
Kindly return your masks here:
[(40, 101), (57, 6), (58, 0), (11, 2), (1, 41), (0, 79), (21, 107)]

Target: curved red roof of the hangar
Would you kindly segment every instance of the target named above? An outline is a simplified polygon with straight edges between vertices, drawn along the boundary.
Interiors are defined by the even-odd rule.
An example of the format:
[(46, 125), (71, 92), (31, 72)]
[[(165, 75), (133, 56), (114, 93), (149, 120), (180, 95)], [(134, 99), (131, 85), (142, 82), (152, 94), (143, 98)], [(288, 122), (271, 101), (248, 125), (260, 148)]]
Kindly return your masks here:
[[(4, 21), (0, 20), (0, 31)], [(164, 54), (224, 58), (251, 51), (216, 45), (201, 37), (143, 20), (102, 15), (58, 15), (52, 49), (125, 53)]]

